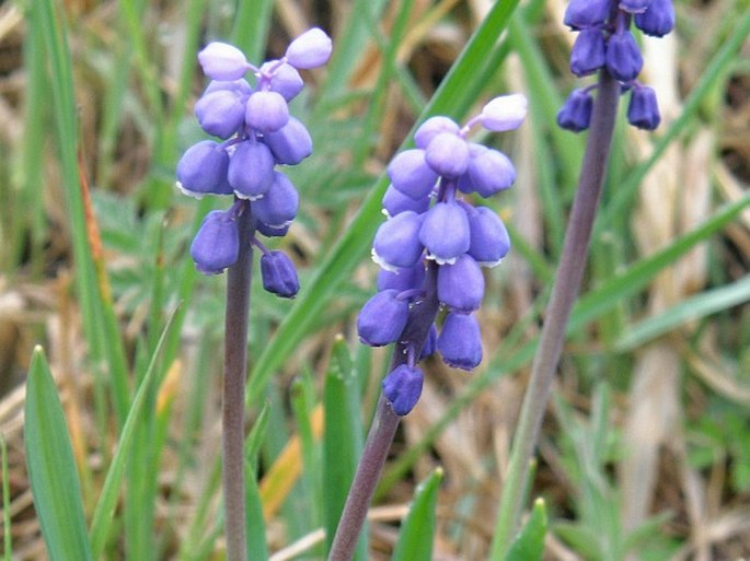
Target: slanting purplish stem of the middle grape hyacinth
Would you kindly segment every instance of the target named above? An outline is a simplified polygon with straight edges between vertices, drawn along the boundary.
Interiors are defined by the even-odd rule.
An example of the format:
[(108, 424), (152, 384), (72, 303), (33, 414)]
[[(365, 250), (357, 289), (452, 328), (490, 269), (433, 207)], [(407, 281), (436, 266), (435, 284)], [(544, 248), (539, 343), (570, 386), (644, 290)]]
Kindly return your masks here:
[[(414, 352), (416, 355), (419, 354), (438, 314), (439, 305), (437, 296), (437, 265), (430, 261), (427, 266), (425, 296), (415, 303), (409, 311), (406, 327), (393, 351), (389, 372), (393, 372), (397, 366), (406, 364), (409, 352)], [(355, 474), (354, 481), (351, 481), (344, 512), (338, 521), (336, 535), (333, 538), (328, 561), (349, 561), (354, 557), (359, 533), (365, 524), (372, 494), (380, 480), (380, 474), (391, 449), (400, 420), (401, 417), (393, 411), (388, 399), (381, 393), (374, 419), (367, 435), (362, 457), (359, 459), (357, 472)]]

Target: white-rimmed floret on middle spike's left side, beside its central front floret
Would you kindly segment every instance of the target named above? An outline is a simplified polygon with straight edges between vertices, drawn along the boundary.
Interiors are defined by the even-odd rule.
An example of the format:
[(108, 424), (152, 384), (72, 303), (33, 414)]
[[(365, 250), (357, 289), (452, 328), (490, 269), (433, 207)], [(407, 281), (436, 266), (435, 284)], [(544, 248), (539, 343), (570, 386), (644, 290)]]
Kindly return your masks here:
[(389, 270), (414, 267), (424, 249), (419, 242), (422, 220), (419, 214), (405, 211), (383, 222), (372, 242), (372, 259)]

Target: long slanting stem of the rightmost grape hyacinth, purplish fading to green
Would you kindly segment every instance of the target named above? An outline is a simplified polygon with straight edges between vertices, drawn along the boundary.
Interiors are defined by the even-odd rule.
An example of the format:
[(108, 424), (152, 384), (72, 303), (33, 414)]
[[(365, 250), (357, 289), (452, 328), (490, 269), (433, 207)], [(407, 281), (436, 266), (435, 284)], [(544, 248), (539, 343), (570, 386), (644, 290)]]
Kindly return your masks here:
[(591, 229), (607, 173), (619, 97), (620, 84), (607, 70), (602, 70), (599, 74), (591, 127), (578, 179), (578, 189), (565, 234), (559, 268), (514, 436), (508, 474), (503, 487), (503, 498), (492, 544), (491, 559), (493, 561), (504, 559), (520, 518), (524, 489), (528, 484), (529, 464), (536, 446), (540, 426), (559, 362), (570, 309), (578, 296), (586, 268)]

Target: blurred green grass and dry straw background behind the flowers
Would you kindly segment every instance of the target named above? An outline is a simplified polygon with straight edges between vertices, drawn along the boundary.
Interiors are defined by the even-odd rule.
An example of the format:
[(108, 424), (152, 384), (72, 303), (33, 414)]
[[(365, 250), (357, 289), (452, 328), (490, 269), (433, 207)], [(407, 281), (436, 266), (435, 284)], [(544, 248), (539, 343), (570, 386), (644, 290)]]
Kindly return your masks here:
[[(750, 3), (676, 7), (676, 33), (644, 39), (642, 78), (657, 89), (664, 121), (656, 133), (621, 126), (615, 135), (533, 467), (529, 495), (547, 505), (550, 560), (750, 558)], [(0, 3), (5, 553), (11, 536), (12, 559), (46, 556), (22, 414), (38, 343), (88, 521), (155, 357), (103, 557), (221, 559), (223, 279), (196, 274), (187, 247), (222, 202), (180, 195), (174, 164), (203, 135), (192, 115), (203, 44), (232, 40), (259, 62), (319, 25), (334, 56), (295, 102), (315, 152), (289, 170), (301, 214), (276, 242), (293, 255), (302, 292), (293, 302), (252, 294), (249, 456), (267, 551), (276, 561), (322, 557), (322, 528), (335, 524), (384, 374), (386, 352), (360, 346), (354, 329), (373, 290), (368, 252), (384, 165), (425, 115), (463, 120), (494, 95), (523, 92), (527, 124), (487, 139), (517, 163), (518, 182), (488, 201), (514, 252), (486, 276), (486, 359), (471, 375), (427, 361), (360, 550), (391, 558), (428, 480), (439, 488), (432, 559), (486, 559), (585, 142), (554, 124), (579, 85), (567, 71), (564, 9), (563, 0)]]

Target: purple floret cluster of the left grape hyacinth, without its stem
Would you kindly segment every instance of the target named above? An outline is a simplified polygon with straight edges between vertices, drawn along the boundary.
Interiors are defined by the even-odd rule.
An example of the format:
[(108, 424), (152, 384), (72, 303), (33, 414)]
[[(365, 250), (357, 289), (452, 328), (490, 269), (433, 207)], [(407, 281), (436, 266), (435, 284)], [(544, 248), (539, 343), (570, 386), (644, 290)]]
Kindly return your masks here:
[[(289, 44), (285, 56), (261, 67), (250, 63), (236, 47), (210, 43), (199, 54), (204, 73), (211, 79), (195, 105), (200, 127), (219, 140), (191, 147), (177, 163), (177, 187), (191, 197), (233, 195), (226, 211), (209, 212), (193, 241), (196, 268), (217, 274), (236, 262), (242, 243), (261, 248), (263, 285), (292, 297), (299, 290), (291, 260), (270, 252), (253, 233), (241, 241), (238, 218), (251, 212), (255, 232), (284, 236), (297, 215), (299, 196), (277, 166), (295, 165), (312, 153), (312, 139), (302, 122), (289, 115), (288, 103), (304, 85), (299, 70), (324, 65), (331, 38), (320, 28)], [(254, 84), (245, 80), (252, 72)]]

